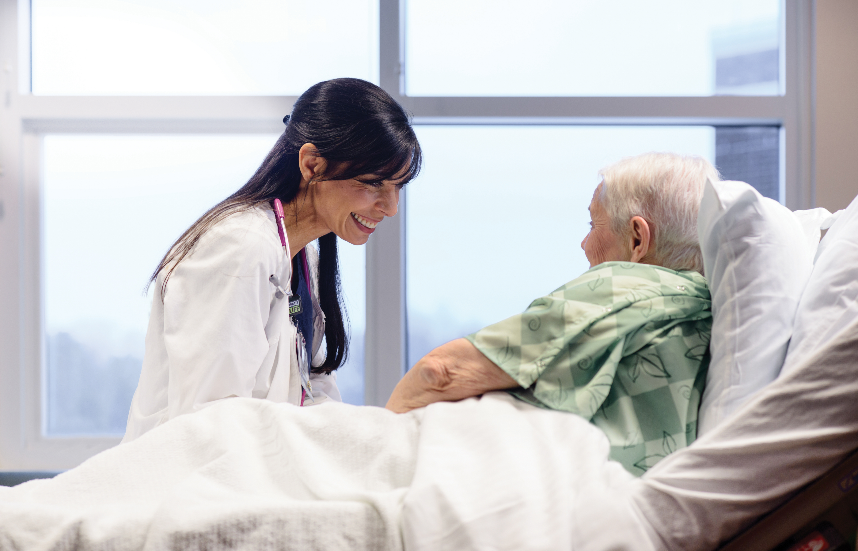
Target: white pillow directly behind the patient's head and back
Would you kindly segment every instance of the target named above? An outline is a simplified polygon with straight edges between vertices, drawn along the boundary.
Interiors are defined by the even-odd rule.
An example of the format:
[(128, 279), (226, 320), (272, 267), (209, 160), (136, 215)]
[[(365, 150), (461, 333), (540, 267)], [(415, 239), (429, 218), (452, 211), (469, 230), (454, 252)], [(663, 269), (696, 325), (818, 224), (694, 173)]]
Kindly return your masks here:
[(706, 183), (698, 235), (713, 317), (701, 435), (776, 379), (813, 255), (795, 215), (743, 182)]

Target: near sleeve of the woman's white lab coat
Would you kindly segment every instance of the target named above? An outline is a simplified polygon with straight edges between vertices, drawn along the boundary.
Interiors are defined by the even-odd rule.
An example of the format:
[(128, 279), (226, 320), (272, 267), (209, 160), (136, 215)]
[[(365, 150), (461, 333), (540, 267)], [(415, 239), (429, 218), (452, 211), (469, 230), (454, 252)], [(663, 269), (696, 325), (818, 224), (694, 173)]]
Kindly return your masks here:
[(166, 284), (171, 419), (222, 398), (250, 397), (280, 337), (265, 329), (275, 290), (269, 276), (280, 273), (285, 254), (265, 219), (233, 216), (243, 223), (227, 219), (209, 229)]

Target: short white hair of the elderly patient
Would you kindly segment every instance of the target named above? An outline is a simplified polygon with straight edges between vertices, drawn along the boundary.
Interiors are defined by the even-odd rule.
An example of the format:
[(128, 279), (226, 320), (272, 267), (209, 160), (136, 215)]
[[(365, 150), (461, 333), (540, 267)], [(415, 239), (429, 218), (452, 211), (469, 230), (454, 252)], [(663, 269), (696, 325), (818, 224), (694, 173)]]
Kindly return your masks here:
[(697, 155), (644, 153), (599, 171), (599, 200), (612, 230), (627, 236), (640, 216), (652, 232), (651, 261), (672, 270), (703, 273), (697, 219), (706, 179), (719, 180), (711, 163)]

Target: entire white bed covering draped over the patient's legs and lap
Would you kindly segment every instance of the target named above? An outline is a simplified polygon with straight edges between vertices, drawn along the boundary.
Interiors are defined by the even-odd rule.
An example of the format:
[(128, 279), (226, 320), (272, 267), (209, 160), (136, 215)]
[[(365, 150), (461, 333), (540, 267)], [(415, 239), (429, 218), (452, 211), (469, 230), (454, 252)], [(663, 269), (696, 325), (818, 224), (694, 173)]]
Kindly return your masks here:
[(234, 398), (0, 488), (0, 548), (571, 548), (598, 532), (577, 525), (594, 495), (642, 542), (607, 452), (580, 417), (503, 392), (400, 416)]

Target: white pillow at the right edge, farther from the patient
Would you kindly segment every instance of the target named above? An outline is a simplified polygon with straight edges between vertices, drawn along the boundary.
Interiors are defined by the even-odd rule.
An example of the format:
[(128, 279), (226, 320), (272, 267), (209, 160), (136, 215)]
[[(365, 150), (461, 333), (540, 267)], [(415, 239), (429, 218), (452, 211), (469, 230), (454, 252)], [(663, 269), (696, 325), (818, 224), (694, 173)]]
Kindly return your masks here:
[(858, 197), (839, 213), (819, 243), (782, 373), (800, 365), (858, 317)]

